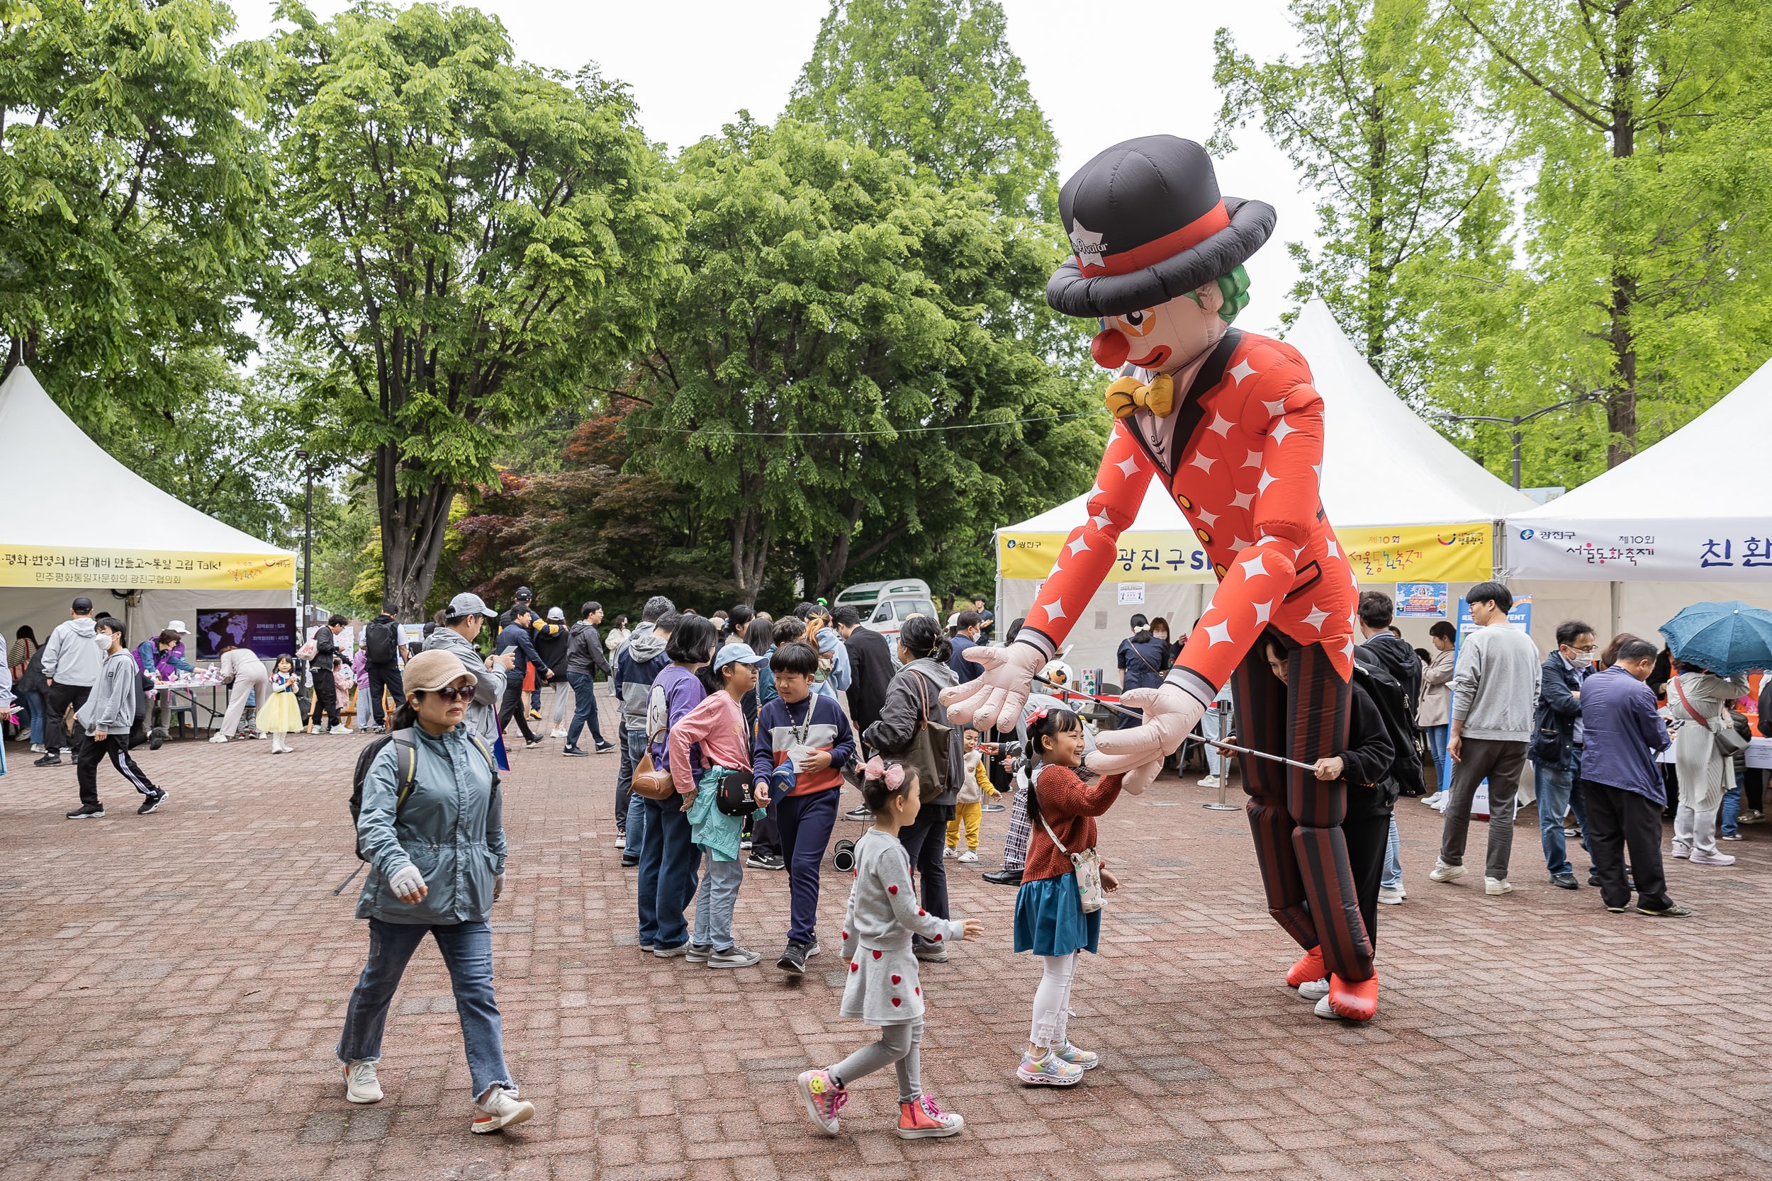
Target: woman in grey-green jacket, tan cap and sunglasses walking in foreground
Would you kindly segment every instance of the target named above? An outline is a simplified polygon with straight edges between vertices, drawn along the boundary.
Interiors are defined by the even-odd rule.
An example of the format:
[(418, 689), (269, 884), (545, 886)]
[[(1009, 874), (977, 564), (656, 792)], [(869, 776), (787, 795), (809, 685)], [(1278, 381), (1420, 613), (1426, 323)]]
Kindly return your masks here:
[[(346, 1098), (379, 1103), (381, 1030), (393, 990), (425, 933), (443, 953), (473, 1075), (473, 1131), (498, 1131), (535, 1114), (505, 1068), (493, 997), (487, 917), (505, 885), (505, 829), (491, 749), (462, 719), (475, 675), (454, 652), (429, 650), (406, 666), (406, 703), (363, 777), (358, 853), (369, 876), (356, 917), (369, 919), (369, 963), (338, 1038)], [(400, 774), (400, 745), (411, 774)], [(404, 781), (402, 781), (404, 779)]]

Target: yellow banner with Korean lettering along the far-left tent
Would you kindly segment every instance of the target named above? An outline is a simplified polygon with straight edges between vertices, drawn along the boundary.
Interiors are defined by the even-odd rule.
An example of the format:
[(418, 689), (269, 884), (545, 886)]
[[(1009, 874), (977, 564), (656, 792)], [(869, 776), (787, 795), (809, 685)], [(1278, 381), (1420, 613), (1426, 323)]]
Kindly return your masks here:
[(0, 586), (294, 590), (296, 558), (0, 544)]

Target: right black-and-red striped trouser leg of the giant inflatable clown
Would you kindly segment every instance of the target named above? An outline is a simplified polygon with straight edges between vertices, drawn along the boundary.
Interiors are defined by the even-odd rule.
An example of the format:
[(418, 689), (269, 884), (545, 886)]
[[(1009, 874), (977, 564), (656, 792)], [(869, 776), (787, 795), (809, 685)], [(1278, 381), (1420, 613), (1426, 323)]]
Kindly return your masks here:
[[(1302, 645), (1286, 660), (1290, 735), (1286, 756), (1315, 763), (1347, 749), (1347, 714), (1352, 687), (1322, 645)], [(1325, 783), (1299, 767), (1285, 767), (1292, 846), (1304, 896), (1322, 940), (1324, 963), (1345, 981), (1372, 977), (1372, 938), (1359, 914), (1359, 892), (1348, 866), (1341, 822), (1347, 784)]]

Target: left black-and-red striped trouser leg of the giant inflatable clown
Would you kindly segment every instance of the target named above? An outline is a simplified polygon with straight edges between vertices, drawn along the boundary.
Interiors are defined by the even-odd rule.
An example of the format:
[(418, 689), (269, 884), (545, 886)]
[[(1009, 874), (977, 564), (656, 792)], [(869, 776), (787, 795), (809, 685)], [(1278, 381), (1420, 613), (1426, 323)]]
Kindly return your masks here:
[[(1271, 632), (1276, 634), (1278, 632)], [(1290, 648), (1290, 643), (1286, 643)], [(1288, 673), (1290, 676), (1290, 673)], [(1255, 751), (1286, 749), (1286, 685), (1267, 668), (1265, 641), (1258, 639), (1230, 678), (1232, 705), (1237, 712), (1237, 745)], [(1255, 859), (1262, 868), (1267, 912), (1274, 922), (1310, 951), (1317, 946), (1317, 922), (1306, 903), (1304, 878), (1292, 845), (1292, 814), (1286, 811), (1286, 765), (1251, 754), (1239, 754), (1242, 790), (1255, 836)]]

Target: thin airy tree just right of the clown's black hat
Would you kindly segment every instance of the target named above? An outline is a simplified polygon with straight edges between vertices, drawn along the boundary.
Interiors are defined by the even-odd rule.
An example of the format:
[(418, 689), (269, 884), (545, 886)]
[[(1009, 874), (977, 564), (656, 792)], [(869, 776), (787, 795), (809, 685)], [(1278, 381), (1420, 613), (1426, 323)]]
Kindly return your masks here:
[(1302, 274), (1292, 297), (1322, 297), (1372, 368), (1414, 397), (1428, 379), (1423, 310), (1481, 285), (1460, 259), (1494, 251), (1508, 228), (1497, 145), (1460, 117), (1474, 37), (1428, 0), (1294, 0), (1290, 12), (1299, 62), (1256, 64), (1217, 32), (1212, 149), (1235, 151), (1232, 131), (1260, 119), (1322, 193), (1322, 246), (1286, 244)]

